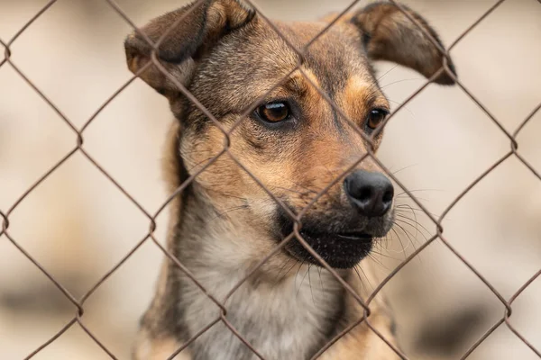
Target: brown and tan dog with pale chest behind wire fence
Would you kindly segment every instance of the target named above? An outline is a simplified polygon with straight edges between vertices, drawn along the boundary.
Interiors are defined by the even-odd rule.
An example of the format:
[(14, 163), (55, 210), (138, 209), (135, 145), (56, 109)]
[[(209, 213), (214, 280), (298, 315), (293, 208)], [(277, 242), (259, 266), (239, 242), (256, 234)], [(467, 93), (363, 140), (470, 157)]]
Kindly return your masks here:
[[(390, 179), (373, 158), (360, 161), (379, 147), (390, 113), (371, 64), (393, 61), (441, 85), (456, 73), (408, 7), (373, 3), (335, 18), (271, 25), (240, 0), (205, 0), (124, 41), (129, 69), (169, 100), (164, 169), (170, 193), (183, 186), (134, 359), (402, 357), (384, 297), (354, 326), (366, 313), (342, 284), (370, 295), (367, 257), (393, 224)], [(298, 229), (290, 212), (302, 211)], [(209, 294), (225, 301), (222, 319)]]

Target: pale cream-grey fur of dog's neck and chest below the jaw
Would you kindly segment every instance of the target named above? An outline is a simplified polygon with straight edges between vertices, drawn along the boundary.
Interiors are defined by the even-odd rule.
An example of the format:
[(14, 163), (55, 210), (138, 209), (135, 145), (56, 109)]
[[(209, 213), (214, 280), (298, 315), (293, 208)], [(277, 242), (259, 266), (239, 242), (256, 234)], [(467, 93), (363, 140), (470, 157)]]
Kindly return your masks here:
[[(226, 299), (227, 320), (262, 356), (308, 358), (335, 334), (344, 311), (344, 289), (333, 275), (292, 258), (281, 263), (271, 258), (230, 294), (268, 253), (251, 245), (261, 244), (253, 237), (265, 235), (234, 217), (216, 216), (193, 189), (180, 208), (179, 228), (171, 231), (175, 237), (170, 239), (171, 251), (218, 302)], [(277, 243), (268, 240), (270, 251)], [(179, 279), (175, 297), (186, 341), (216, 320), (220, 308), (178, 267), (171, 271)], [(197, 338), (192, 347), (194, 360), (256, 358), (224, 322)]]

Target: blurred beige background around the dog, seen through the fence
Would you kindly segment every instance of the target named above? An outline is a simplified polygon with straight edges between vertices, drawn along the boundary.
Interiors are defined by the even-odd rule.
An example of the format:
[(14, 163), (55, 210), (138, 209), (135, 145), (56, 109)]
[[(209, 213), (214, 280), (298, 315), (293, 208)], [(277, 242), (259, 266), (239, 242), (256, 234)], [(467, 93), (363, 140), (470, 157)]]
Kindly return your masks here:
[[(47, 2), (0, 0), (0, 39), (7, 42)], [(179, 0), (118, 0), (134, 23), (175, 9)], [(258, 0), (274, 19), (314, 20), (349, 0)], [(361, 2), (360, 6), (362, 6)], [(454, 41), (495, 0), (406, 0), (425, 15), (445, 44)], [(59, 0), (11, 47), (14, 64), (77, 128), (131, 74), (123, 40), (132, 28), (101, 0)], [(509, 132), (541, 102), (541, 4), (508, 0), (453, 49), (465, 85)], [(396, 108), (425, 83), (416, 73), (377, 64)], [(84, 148), (148, 212), (167, 199), (161, 148), (172, 116), (166, 100), (137, 79), (84, 132)], [(519, 152), (541, 171), (541, 112), (518, 136)], [(77, 136), (9, 64), (0, 67), (0, 211), (77, 144)], [(429, 85), (389, 123), (380, 158), (439, 216), (454, 198), (509, 151), (509, 139), (457, 87)], [(409, 203), (403, 195), (400, 203)], [(416, 205), (412, 205), (416, 206)], [(435, 225), (403, 224), (385, 249), (388, 274)], [(413, 215), (412, 215), (413, 216)], [(412, 217), (411, 216), (411, 217)], [(163, 241), (167, 211), (158, 219)], [(149, 220), (87, 158), (76, 153), (9, 216), (9, 234), (77, 298), (147, 234)], [(541, 182), (510, 157), (454, 206), (445, 238), (509, 299), (541, 267)], [(397, 238), (397, 236), (394, 236)], [(401, 244), (400, 244), (401, 242)], [(137, 320), (150, 302), (162, 255), (145, 243), (97, 288), (82, 318), (120, 359), (129, 358)], [(376, 286), (377, 284), (371, 284)], [(504, 306), (470, 269), (437, 241), (386, 286), (399, 339), (412, 359), (458, 359), (491, 328)], [(541, 279), (513, 304), (512, 323), (541, 349)], [(36, 266), (0, 237), (0, 358), (22, 359), (57, 333), (76, 308)], [(77, 325), (35, 359), (107, 359)], [(501, 326), (469, 358), (536, 359)]]

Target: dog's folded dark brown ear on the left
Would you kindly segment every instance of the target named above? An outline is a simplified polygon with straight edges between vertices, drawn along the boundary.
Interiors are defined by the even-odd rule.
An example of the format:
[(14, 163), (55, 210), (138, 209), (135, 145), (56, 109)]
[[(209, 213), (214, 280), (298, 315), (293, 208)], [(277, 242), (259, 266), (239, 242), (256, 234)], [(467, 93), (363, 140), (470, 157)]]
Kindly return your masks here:
[[(141, 31), (154, 43), (167, 32), (160, 42), (157, 58), (171, 76), (186, 85), (198, 58), (205, 56), (226, 33), (239, 29), (254, 18), (255, 12), (240, 1), (197, 0), (153, 19)], [(173, 26), (174, 29), (170, 29)], [(139, 31), (133, 31), (127, 37), (124, 48), (128, 67), (134, 74), (151, 61), (151, 44)], [(154, 64), (143, 70), (140, 77), (160, 94), (179, 91), (170, 77)]]

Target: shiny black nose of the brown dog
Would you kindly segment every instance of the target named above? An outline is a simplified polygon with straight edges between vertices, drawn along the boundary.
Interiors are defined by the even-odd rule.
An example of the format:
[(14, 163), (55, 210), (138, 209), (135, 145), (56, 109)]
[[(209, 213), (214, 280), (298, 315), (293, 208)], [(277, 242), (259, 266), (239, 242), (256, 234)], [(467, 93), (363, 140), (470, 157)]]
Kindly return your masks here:
[(394, 196), (390, 180), (380, 173), (357, 170), (344, 180), (350, 202), (364, 216), (376, 217), (389, 211)]

